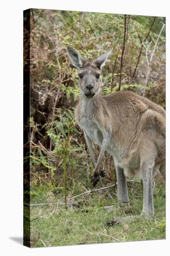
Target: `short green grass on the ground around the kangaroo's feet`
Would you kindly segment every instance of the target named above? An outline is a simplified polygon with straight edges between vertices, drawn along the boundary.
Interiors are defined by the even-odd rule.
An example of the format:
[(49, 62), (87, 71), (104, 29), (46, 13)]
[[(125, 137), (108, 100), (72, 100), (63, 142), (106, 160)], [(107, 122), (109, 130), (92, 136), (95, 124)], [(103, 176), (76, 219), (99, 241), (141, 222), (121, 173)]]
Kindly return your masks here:
[[(65, 209), (64, 205), (60, 205), (59, 209), (56, 205), (31, 207), (31, 247), (164, 239), (165, 185), (160, 175), (157, 176), (154, 189), (154, 219), (134, 220), (113, 227), (106, 226), (106, 222), (118, 217), (141, 213), (143, 203), (141, 183), (128, 182), (128, 189), (130, 208), (125, 205), (119, 207), (117, 197), (112, 193), (113, 188), (108, 189), (113, 199), (106, 190), (75, 198), (74, 203), (78, 204), (79, 208)], [(41, 186), (32, 190), (34, 191), (32, 203), (58, 202), (58, 200), (64, 202), (61, 189), (45, 191)], [(113, 205), (114, 208), (106, 210), (104, 209), (106, 205)], [(25, 222), (28, 220), (25, 219)]]

